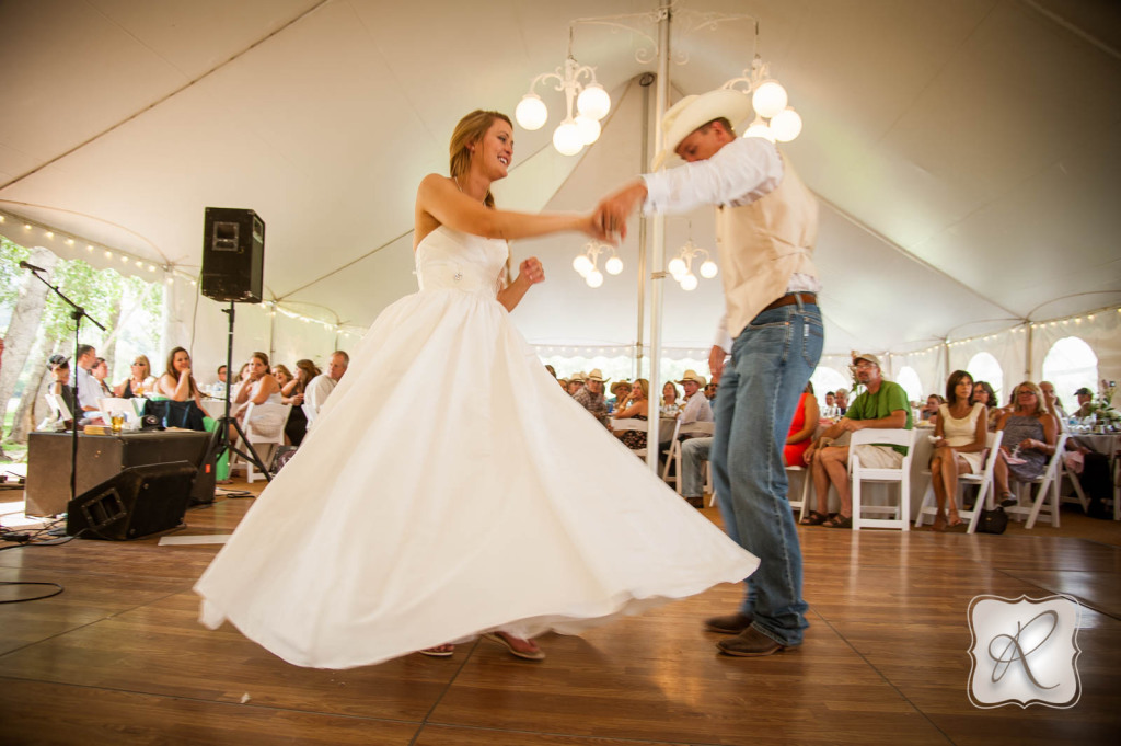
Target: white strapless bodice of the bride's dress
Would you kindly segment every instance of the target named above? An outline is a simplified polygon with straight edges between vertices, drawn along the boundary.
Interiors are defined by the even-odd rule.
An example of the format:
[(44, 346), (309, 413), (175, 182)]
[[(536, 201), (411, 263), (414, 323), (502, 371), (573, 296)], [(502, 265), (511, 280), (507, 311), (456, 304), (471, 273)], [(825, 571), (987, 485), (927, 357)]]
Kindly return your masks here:
[(498, 295), (498, 278), (509, 248), (501, 239), (461, 233), (441, 225), (416, 251), (420, 291), (451, 289)]

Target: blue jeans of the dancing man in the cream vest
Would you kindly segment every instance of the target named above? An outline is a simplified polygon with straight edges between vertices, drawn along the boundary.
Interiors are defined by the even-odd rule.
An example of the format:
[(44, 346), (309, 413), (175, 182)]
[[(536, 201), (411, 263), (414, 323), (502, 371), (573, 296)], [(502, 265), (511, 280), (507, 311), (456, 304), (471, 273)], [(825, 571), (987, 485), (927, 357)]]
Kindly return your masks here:
[(716, 390), (713, 486), (728, 535), (760, 561), (741, 611), (781, 645), (808, 626), (782, 446), (823, 342), (816, 305), (763, 311), (735, 338)]

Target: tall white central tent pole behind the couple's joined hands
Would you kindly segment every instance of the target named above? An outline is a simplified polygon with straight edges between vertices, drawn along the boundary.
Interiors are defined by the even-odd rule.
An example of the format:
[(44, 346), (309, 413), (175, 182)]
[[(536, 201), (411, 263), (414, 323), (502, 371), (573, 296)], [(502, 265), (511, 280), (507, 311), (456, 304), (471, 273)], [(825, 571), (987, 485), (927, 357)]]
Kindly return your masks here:
[[(661, 130), (661, 117), (669, 104), (669, 24), (673, 18), (670, 3), (664, 2), (658, 11), (658, 80), (655, 89), (654, 117), (654, 150), (657, 153), (665, 144), (666, 133)], [(661, 432), (661, 297), (666, 273), (666, 217), (657, 213), (651, 220), (652, 240), (650, 242), (650, 403), (649, 426), (646, 435), (646, 462), (651, 470), (658, 471), (658, 455), (661, 452), (659, 433)], [(680, 478), (680, 477), (678, 477)]]

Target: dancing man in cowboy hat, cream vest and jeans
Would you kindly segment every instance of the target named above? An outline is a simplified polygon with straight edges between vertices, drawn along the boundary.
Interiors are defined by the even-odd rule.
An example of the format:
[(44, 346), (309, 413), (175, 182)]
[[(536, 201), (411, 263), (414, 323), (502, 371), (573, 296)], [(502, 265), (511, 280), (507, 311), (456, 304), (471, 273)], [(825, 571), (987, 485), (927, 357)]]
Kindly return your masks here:
[(717, 647), (742, 656), (796, 647), (807, 626), (782, 445), (824, 341), (812, 260), (817, 201), (773, 144), (736, 138), (733, 125), (751, 114), (740, 91), (686, 96), (663, 119), (665, 149), (654, 167), (674, 154), (686, 164), (628, 183), (596, 210), (604, 231), (624, 237), (640, 205), (647, 213), (716, 205), (726, 311), (708, 359), (720, 383), (713, 481), (729, 535), (761, 562), (740, 609), (706, 626), (735, 635)]

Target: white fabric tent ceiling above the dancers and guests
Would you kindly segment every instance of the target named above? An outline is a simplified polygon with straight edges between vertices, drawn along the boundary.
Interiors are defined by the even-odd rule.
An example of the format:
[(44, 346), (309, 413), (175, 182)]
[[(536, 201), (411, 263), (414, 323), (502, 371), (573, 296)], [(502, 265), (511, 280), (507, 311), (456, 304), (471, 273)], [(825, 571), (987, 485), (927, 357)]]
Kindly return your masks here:
[[(456, 120), (512, 112), (562, 64), (569, 21), (657, 0), (0, 1), (0, 210), (197, 271), (206, 205), (267, 223), (267, 296), (365, 325), (415, 289), (415, 188), (446, 169)], [(904, 351), (1121, 303), (1121, 6), (1106, 0), (689, 0), (750, 13), (805, 120), (786, 147), (822, 200), (826, 349)], [(675, 13), (675, 98), (750, 65), (743, 21)], [(695, 16), (693, 17), (695, 18)], [(647, 24), (642, 18), (631, 25)], [(696, 24), (693, 24), (694, 26)], [(654, 27), (646, 26), (655, 34)], [(566, 158), (516, 130), (502, 206), (587, 210), (643, 163), (651, 64), (639, 35), (580, 25), (574, 53), (614, 105)], [(707, 210), (667, 251), (712, 247)], [(20, 240), (9, 221), (3, 228)], [(692, 222), (692, 228), (691, 228)], [(531, 342), (638, 335), (637, 221), (627, 269), (593, 291), (578, 236), (522, 241), (548, 282), (517, 323)], [(61, 252), (64, 254), (65, 249)], [(719, 284), (667, 283), (665, 343), (707, 348)]]

